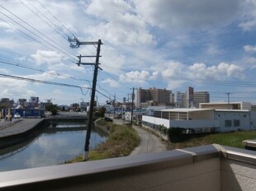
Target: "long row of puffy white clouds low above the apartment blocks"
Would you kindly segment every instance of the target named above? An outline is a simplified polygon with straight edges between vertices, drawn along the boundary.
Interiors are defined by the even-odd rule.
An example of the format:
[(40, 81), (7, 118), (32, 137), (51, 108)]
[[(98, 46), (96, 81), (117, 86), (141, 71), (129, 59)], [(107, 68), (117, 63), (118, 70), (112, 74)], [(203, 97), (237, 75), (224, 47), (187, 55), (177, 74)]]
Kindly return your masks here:
[(159, 66), (155, 66), (154, 70), (159, 72), (159, 76), (163, 77), (164, 82), (168, 84), (168, 89), (172, 90), (187, 82), (187, 78), (197, 80), (229, 80), (232, 78), (244, 78), (244, 68), (230, 63), (218, 63), (217, 65), (207, 66), (205, 63), (193, 63), (187, 66), (184, 63), (168, 62)]

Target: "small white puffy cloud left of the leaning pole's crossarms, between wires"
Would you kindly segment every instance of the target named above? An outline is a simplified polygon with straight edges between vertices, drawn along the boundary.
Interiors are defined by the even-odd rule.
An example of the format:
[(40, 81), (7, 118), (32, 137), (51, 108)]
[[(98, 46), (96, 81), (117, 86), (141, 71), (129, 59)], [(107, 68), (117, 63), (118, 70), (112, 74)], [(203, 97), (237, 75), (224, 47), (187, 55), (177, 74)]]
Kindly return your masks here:
[(52, 50), (37, 50), (36, 54), (31, 55), (35, 59), (36, 63), (59, 63), (61, 61), (61, 55)]

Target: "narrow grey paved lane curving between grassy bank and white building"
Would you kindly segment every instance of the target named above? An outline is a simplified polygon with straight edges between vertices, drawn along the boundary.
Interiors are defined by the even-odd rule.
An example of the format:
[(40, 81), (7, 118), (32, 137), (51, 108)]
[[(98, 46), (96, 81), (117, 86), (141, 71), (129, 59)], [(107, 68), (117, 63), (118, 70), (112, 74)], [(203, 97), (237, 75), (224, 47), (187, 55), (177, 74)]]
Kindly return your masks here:
[[(114, 123), (122, 124), (122, 120), (114, 119)], [(130, 156), (166, 151), (166, 146), (159, 137), (138, 126), (133, 125), (132, 128), (135, 128), (140, 136), (140, 145), (130, 153)]]

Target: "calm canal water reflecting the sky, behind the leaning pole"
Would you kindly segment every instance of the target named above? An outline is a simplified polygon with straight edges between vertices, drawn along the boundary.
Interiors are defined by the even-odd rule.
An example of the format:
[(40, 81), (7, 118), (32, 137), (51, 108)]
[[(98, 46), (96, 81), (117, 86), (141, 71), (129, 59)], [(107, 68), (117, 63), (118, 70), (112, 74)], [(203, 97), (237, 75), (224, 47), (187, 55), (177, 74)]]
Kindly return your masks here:
[[(0, 150), (0, 171), (59, 165), (83, 154), (84, 128), (78, 123), (60, 123), (55, 128), (45, 128), (34, 140)], [(90, 149), (105, 140), (102, 133), (92, 130)]]

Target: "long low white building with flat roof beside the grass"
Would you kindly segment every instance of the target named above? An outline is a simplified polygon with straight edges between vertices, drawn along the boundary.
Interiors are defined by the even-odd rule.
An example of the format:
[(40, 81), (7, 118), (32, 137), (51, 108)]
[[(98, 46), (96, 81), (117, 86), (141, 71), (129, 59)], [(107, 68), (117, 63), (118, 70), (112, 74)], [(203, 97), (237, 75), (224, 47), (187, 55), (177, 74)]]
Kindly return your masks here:
[(256, 130), (256, 114), (241, 109), (162, 109), (142, 116), (144, 126), (192, 128), (196, 133)]

